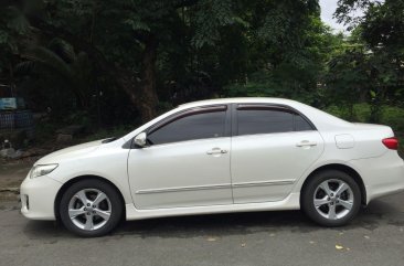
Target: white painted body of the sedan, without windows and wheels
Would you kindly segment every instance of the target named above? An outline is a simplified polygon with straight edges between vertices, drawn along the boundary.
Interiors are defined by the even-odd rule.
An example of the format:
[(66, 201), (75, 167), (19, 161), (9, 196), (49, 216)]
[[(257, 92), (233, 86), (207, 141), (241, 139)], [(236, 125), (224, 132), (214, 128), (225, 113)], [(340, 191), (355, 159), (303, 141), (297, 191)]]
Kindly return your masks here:
[[(286, 105), (305, 115), (317, 130), (192, 140), (145, 149), (123, 148), (138, 134), (178, 111), (233, 103)], [(358, 172), (364, 184), (365, 203), (369, 203), (378, 196), (404, 190), (404, 162), (397, 151), (382, 143), (383, 138), (393, 136), (390, 127), (351, 124), (288, 99), (190, 103), (115, 141), (93, 141), (40, 159), (35, 166), (59, 163), (59, 167), (47, 175), (28, 177), (23, 181), (21, 198), (23, 201), (28, 196), (30, 206), (28, 209), (23, 201), (22, 214), (29, 219), (54, 220), (54, 204), (63, 184), (87, 175), (108, 180), (119, 190), (127, 220), (298, 210), (304, 182), (315, 170), (330, 164), (345, 166)], [(296, 146), (304, 140), (316, 146)], [(206, 151), (215, 147), (228, 152), (206, 156)], [(265, 147), (274, 152), (266, 152)]]

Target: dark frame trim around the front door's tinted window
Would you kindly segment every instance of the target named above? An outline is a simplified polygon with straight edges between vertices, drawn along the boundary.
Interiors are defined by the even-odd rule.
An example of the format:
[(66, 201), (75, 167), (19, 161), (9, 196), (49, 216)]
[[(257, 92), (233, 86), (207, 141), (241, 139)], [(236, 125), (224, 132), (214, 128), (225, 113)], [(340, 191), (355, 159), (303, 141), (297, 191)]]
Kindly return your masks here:
[[(206, 105), (206, 106), (198, 106), (198, 107), (191, 107), (188, 109), (180, 110), (176, 114), (172, 114), (156, 124), (151, 125), (143, 131), (149, 135), (155, 132), (156, 130), (159, 130), (160, 128), (177, 121), (181, 118), (192, 116), (192, 115), (199, 115), (199, 114), (206, 114), (206, 113), (217, 113), (217, 111), (224, 111), (224, 135), (217, 138), (224, 138), (224, 137), (231, 137), (231, 111), (228, 111), (228, 105), (227, 104), (219, 104), (219, 105)], [(173, 142), (167, 142), (167, 143), (159, 143), (159, 145), (151, 145), (150, 147), (157, 147), (160, 145), (172, 145), (172, 143), (179, 143), (179, 142), (185, 142), (185, 141), (194, 141), (194, 140), (206, 140), (212, 138), (201, 138), (201, 139), (189, 139), (189, 140), (181, 140), (181, 141), (173, 141)], [(131, 145), (131, 149), (138, 149), (138, 147)]]

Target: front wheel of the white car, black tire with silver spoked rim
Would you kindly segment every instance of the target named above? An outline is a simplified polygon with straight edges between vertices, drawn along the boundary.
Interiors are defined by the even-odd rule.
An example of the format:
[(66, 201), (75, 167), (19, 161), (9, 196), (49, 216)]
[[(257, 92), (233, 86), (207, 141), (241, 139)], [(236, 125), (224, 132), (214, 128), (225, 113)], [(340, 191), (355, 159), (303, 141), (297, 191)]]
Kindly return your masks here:
[(124, 203), (114, 187), (97, 179), (72, 184), (62, 195), (60, 217), (72, 233), (103, 236), (113, 231), (123, 215)]

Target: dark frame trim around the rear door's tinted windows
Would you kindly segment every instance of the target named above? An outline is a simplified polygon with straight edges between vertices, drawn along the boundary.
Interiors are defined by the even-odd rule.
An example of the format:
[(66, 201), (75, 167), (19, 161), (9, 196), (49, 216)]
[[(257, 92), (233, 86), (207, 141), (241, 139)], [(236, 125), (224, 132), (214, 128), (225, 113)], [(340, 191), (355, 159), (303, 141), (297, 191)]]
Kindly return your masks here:
[[(266, 132), (266, 134), (247, 134), (247, 135), (238, 135), (238, 111), (241, 110), (277, 110), (277, 111), (285, 111), (290, 113), (294, 115), (294, 130), (293, 131), (285, 131), (285, 132)], [(265, 103), (248, 103), (248, 104), (233, 104), (232, 107), (232, 137), (238, 136), (254, 136), (254, 135), (268, 135), (268, 134), (286, 134), (286, 132), (300, 132), (300, 130), (296, 130), (296, 121), (295, 117), (300, 116), (304, 120), (306, 120), (311, 130), (302, 130), (302, 131), (317, 131), (316, 126), (311, 123), (310, 119), (307, 118), (301, 111), (295, 109), (291, 106), (283, 105), (283, 104), (265, 104)]]

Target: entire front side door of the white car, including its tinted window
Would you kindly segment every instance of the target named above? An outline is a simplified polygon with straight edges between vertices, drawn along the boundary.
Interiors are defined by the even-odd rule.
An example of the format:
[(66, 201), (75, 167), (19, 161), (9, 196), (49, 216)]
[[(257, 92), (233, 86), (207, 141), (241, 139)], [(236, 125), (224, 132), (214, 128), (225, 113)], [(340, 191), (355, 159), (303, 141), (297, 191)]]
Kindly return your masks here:
[(137, 209), (232, 204), (230, 111), (192, 108), (147, 130), (149, 146), (134, 148), (128, 174)]

